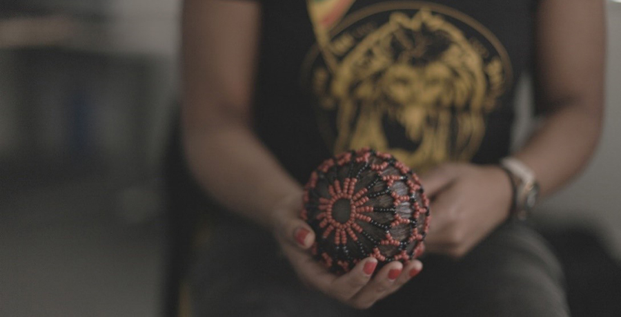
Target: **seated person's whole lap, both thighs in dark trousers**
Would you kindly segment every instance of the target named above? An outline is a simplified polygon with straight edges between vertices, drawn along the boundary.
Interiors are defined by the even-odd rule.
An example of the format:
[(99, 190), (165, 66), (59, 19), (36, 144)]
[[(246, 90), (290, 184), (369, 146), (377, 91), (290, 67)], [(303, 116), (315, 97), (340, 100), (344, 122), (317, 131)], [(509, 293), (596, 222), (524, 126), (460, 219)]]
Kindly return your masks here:
[(545, 242), (520, 223), (497, 229), (468, 256), (422, 259), (425, 269), (370, 311), (306, 289), (256, 227), (219, 225), (190, 271), (196, 316), (568, 316), (562, 270)]

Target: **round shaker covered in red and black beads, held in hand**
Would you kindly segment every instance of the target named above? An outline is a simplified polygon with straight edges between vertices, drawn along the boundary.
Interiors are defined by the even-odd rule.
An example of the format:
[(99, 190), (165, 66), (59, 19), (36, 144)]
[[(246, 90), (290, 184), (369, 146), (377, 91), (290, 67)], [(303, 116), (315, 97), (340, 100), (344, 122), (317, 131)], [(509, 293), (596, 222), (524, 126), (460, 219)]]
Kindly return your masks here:
[(304, 187), (300, 216), (315, 231), (313, 256), (337, 274), (368, 256), (378, 268), (420, 256), (430, 220), (417, 175), (368, 148), (319, 165)]

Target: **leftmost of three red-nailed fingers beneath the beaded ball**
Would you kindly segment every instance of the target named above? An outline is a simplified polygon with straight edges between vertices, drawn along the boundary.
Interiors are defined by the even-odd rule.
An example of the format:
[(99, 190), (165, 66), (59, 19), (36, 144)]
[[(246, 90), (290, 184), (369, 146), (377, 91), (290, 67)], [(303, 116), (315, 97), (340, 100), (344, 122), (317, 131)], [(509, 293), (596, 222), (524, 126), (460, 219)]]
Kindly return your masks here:
[(349, 300), (368, 284), (377, 267), (377, 259), (365, 258), (360, 261), (351, 271), (335, 279), (328, 294), (339, 300)]

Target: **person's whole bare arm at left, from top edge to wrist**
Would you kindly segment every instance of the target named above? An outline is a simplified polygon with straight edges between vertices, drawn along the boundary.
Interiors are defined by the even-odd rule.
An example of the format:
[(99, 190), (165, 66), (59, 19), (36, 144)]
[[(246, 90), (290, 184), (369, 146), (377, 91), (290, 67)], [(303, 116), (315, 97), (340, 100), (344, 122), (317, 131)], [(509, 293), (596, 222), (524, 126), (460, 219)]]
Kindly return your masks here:
[(195, 178), (226, 209), (270, 226), (301, 190), (250, 130), (259, 1), (184, 1), (184, 151)]

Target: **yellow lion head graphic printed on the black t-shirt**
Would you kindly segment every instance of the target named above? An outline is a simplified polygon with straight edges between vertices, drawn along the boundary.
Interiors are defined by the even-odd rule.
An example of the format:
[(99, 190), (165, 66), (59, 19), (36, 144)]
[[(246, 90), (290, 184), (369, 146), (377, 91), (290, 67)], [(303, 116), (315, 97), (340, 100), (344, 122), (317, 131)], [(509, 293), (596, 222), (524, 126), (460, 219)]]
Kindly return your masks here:
[(307, 76), (326, 141), (335, 153), (371, 146), (419, 170), (470, 160), (507, 85), (504, 48), (490, 45), (489, 32), (466, 37), (451, 23), (467, 17), (376, 9), (386, 19), (379, 26), (373, 14), (340, 32), (315, 26)]

